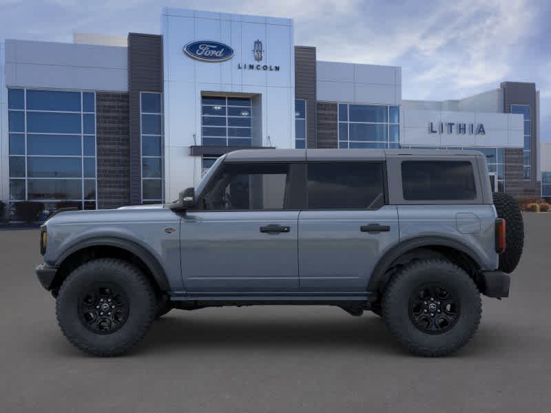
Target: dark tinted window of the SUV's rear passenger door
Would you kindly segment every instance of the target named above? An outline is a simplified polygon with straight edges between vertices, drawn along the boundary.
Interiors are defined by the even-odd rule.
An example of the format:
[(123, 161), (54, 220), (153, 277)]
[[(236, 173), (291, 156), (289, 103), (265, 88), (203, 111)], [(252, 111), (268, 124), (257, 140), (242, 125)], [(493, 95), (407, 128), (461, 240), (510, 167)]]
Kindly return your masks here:
[(308, 209), (366, 209), (384, 204), (381, 163), (308, 164)]

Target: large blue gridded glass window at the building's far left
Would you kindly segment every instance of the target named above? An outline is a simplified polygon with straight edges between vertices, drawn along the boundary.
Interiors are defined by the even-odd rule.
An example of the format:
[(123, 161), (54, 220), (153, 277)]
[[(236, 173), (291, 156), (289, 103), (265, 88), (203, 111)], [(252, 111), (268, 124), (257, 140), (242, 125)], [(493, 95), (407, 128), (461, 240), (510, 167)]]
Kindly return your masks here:
[(8, 89), (10, 218), (17, 202), (96, 209), (94, 92)]

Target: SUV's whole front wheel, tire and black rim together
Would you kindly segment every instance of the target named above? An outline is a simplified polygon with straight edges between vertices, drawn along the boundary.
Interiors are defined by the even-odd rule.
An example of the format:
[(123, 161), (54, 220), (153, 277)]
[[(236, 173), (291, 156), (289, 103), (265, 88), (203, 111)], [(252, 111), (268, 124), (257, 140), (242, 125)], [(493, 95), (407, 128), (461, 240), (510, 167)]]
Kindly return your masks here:
[(152, 285), (138, 267), (102, 258), (86, 262), (65, 279), (56, 316), (76, 348), (95, 356), (116, 356), (143, 339), (156, 304)]

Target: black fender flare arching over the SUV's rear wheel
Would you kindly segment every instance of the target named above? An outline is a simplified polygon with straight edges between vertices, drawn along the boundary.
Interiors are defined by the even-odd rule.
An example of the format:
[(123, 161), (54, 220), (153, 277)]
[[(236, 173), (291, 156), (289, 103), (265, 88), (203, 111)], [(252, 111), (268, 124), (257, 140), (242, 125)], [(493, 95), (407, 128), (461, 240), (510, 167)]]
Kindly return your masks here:
[(384, 253), (384, 255), (377, 262), (377, 265), (375, 265), (375, 269), (373, 270), (371, 278), (369, 279), (369, 282), (367, 284), (367, 290), (377, 293), (381, 282), (384, 281), (384, 275), (386, 271), (388, 271), (388, 268), (390, 268), (391, 264), (405, 253), (408, 253), (408, 251), (412, 251), (415, 248), (421, 248), (423, 246), (446, 246), (449, 248), (453, 248), (470, 257), (470, 259), (474, 261), (475, 264), (479, 266), (479, 268), (483, 267), (484, 260), (482, 259), (482, 257), (480, 257), (479, 254), (477, 254), (475, 251), (473, 251), (472, 248), (466, 246), (465, 244), (462, 244), (459, 241), (451, 240), (450, 238), (446, 237), (436, 236), (417, 237), (406, 240), (404, 242), (400, 242), (399, 244), (393, 246), (393, 248), (391, 248), (389, 251)]

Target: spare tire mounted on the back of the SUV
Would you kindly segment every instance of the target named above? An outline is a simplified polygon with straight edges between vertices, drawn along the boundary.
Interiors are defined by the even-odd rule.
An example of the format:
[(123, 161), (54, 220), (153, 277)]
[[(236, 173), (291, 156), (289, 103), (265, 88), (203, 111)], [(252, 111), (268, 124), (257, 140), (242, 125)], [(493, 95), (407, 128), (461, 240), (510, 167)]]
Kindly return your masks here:
[(511, 195), (494, 192), (497, 216), (505, 220), (505, 251), (499, 255), (499, 269), (512, 273), (517, 268), (524, 247), (524, 224), (517, 201)]

